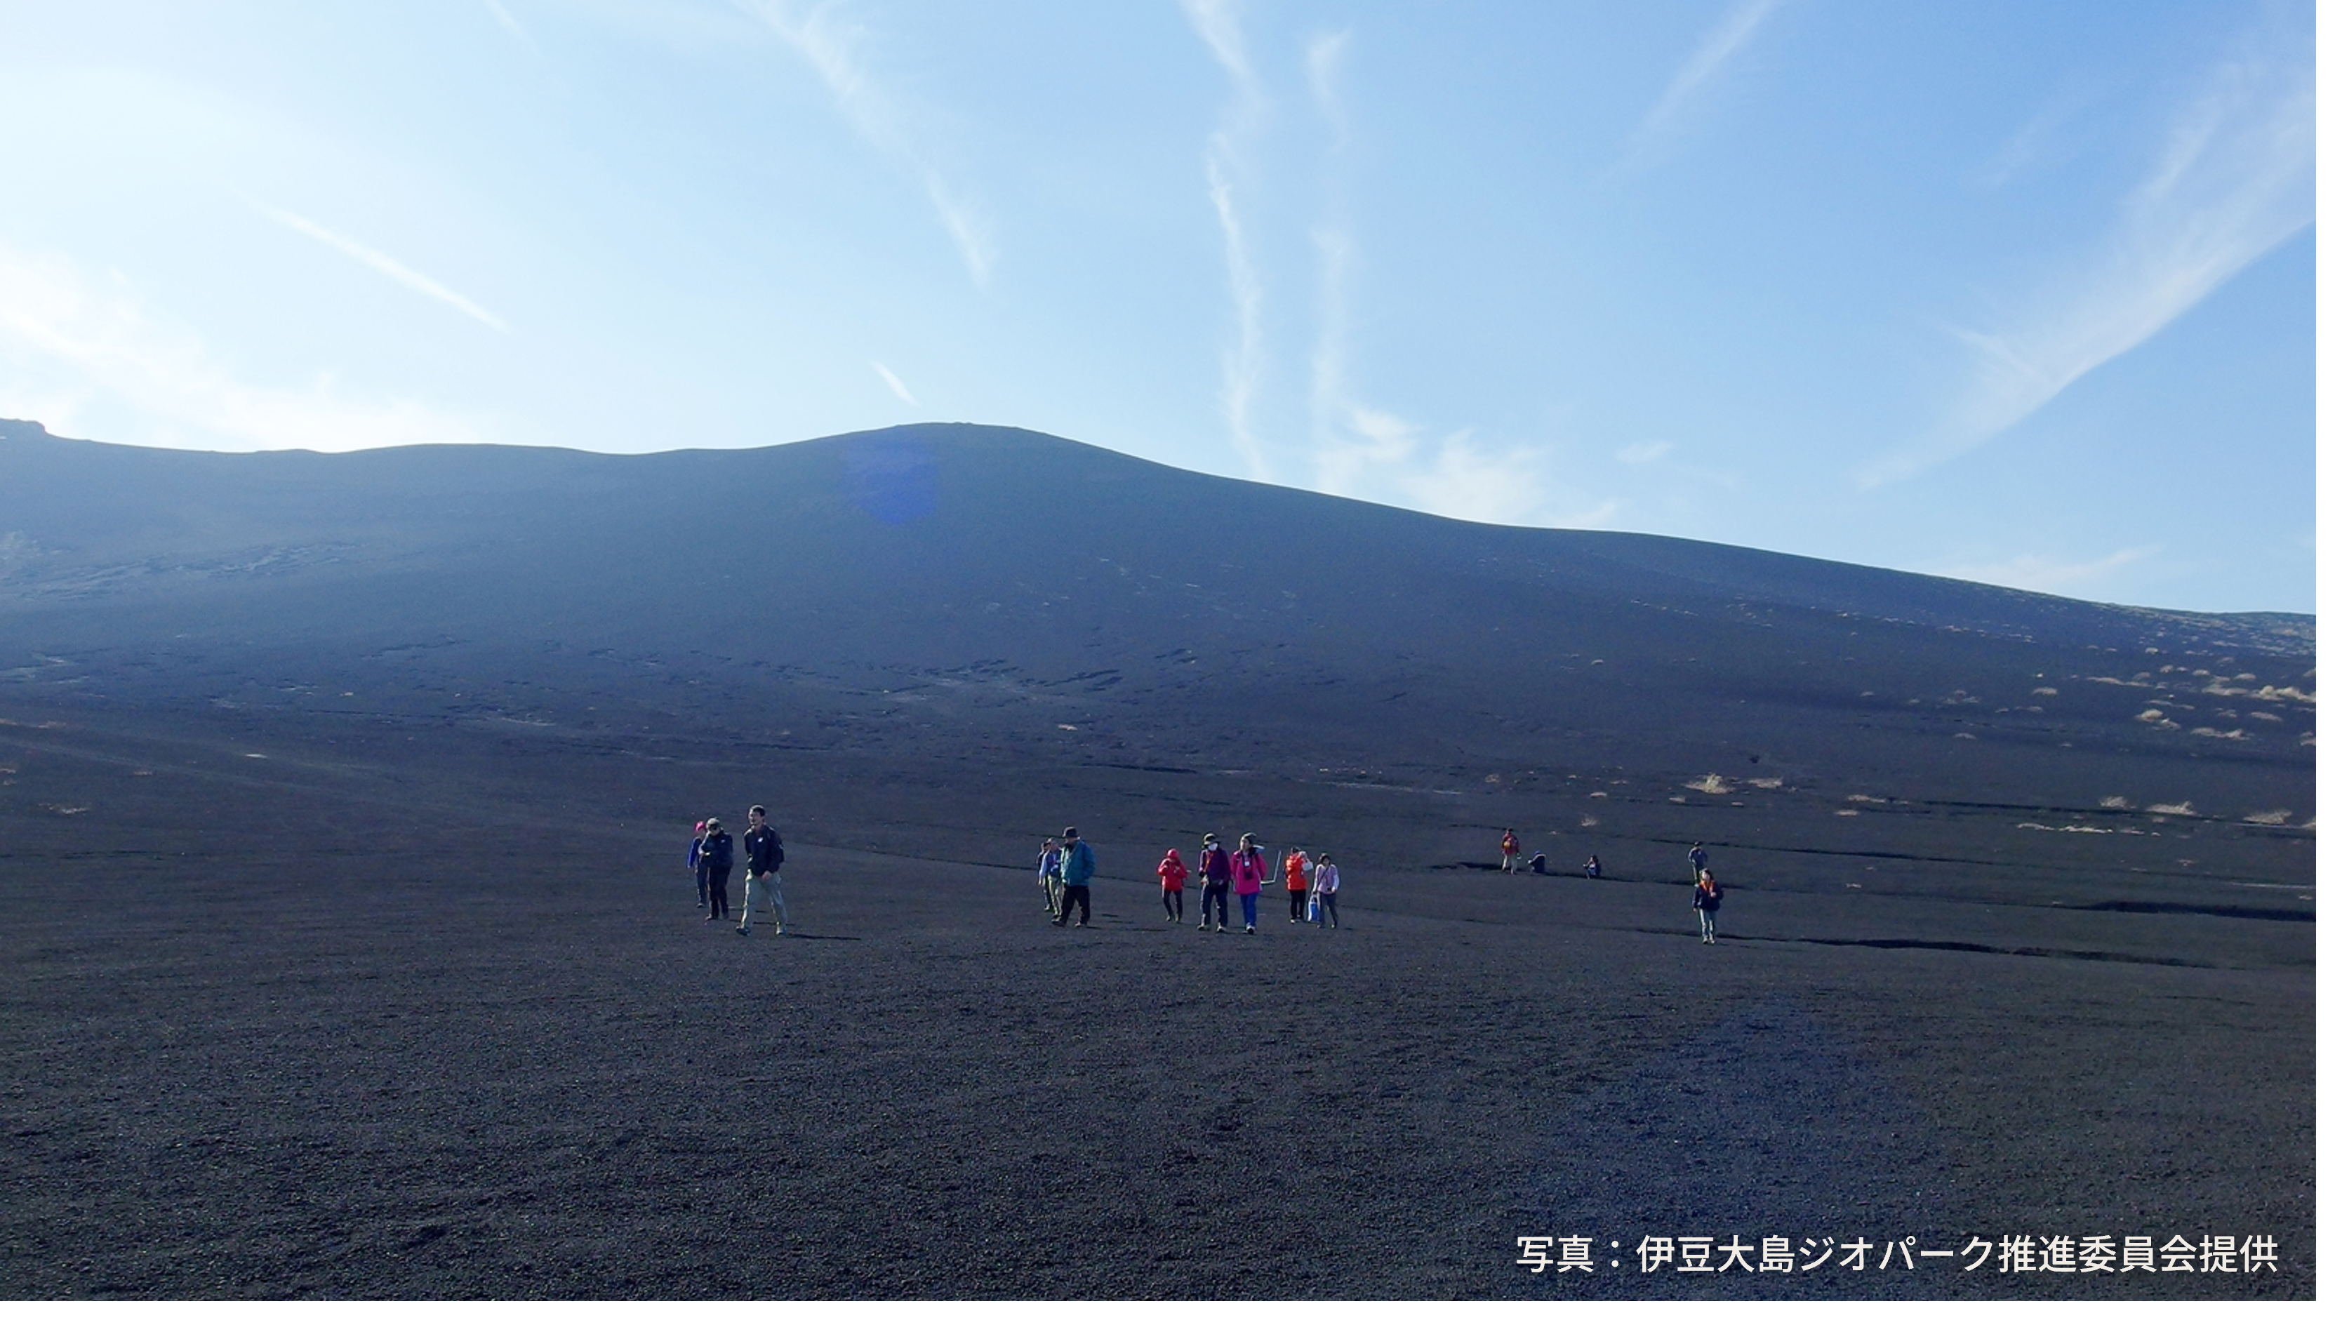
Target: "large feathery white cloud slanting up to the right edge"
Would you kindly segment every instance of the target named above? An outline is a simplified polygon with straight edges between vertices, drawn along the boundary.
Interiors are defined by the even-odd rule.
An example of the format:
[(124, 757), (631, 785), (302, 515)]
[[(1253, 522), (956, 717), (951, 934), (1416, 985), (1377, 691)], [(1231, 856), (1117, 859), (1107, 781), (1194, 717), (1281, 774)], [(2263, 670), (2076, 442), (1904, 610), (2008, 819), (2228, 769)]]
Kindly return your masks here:
[(1859, 481), (1903, 481), (1985, 444), (2309, 227), (2316, 115), (2316, 42), (2251, 35), (2174, 115), (2148, 178), (2062, 290), (2008, 327), (1954, 329), (1975, 353), (1971, 386), (1929, 439)]

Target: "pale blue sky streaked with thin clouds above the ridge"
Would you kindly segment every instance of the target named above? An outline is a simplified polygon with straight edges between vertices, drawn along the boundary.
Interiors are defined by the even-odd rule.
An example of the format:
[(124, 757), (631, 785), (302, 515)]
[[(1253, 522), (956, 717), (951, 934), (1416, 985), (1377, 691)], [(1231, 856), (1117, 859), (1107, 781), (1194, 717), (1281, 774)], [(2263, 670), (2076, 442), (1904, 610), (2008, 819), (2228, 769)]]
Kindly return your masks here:
[(0, 416), (985, 421), (1452, 516), (2309, 610), (2300, 5), (0, 9)]

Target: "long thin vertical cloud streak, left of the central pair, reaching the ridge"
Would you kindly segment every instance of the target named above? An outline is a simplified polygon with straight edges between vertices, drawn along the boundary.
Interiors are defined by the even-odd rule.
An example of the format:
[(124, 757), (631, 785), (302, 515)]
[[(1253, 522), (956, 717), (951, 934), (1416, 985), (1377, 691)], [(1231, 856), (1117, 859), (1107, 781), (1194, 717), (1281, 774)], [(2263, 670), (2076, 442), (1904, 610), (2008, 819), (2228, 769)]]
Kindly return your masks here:
[(1184, 0), (1184, 16), (1207, 44), (1210, 56), (1233, 82), (1233, 103), (1207, 138), (1207, 201), (1217, 210), (1224, 236), (1226, 285), (1233, 294), (1233, 341), (1224, 348), (1224, 418), (1233, 449), (1259, 481), (1273, 479), (1266, 446), (1256, 430), (1256, 393), (1266, 376), (1266, 287), (1259, 278), (1242, 227), (1235, 178), (1247, 173), (1247, 147), (1263, 117), (1266, 96), (1249, 65), (1247, 42), (1233, 0)]

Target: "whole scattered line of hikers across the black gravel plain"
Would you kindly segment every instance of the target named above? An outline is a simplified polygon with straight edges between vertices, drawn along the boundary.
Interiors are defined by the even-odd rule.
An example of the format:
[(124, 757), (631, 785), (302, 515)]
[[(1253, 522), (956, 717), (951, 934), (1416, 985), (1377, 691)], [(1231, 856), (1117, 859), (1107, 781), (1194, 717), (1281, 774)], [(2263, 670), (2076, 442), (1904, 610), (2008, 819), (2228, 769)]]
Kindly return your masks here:
[[(787, 897), (780, 893), (778, 867), (787, 860), (787, 846), (771, 827), (768, 811), (754, 806), (745, 816), (747, 832), (743, 841), (745, 851), (745, 904), (738, 914), (738, 932), (754, 932), (757, 907), (773, 923), (778, 935), (787, 932)], [(698, 909), (705, 911), (705, 921), (729, 921), (729, 879), (738, 865), (740, 844), (733, 839), (719, 818), (705, 818), (696, 827), (696, 837), (689, 841), (689, 867), (698, 876)], [(1518, 858), (1522, 855), (1522, 844), (1515, 830), (1508, 827), (1499, 837), (1499, 867), (1506, 874), (1518, 872)], [(1686, 860), (1695, 867), (1695, 918), (1702, 925), (1702, 942), (1719, 942), (1719, 902), (1726, 890), (1712, 876), (1709, 853), (1702, 851), (1698, 841)], [(1546, 874), (1546, 855), (1532, 855), (1532, 872)], [(1581, 867), (1588, 879), (1604, 876), (1604, 867), (1595, 855)], [(1198, 874), (1200, 879), (1200, 930), (1217, 930), (1219, 935), (1231, 928), (1231, 900), (1240, 897), (1240, 930), (1245, 935), (1256, 932), (1256, 900), (1263, 897), (1266, 883), (1280, 883), (1289, 895), (1289, 923), (1312, 923), (1317, 928), (1338, 928), (1338, 862), (1326, 853), (1308, 855), (1303, 848), (1291, 846), (1280, 862), (1275, 862), (1263, 846), (1259, 846), (1254, 832), (1242, 832), (1240, 844), (1226, 851), (1217, 834), (1210, 832), (1200, 837), (1200, 862), (1186, 865), (1184, 853), (1175, 846), (1158, 862), (1160, 881), (1160, 911), (1168, 923), (1184, 923), (1184, 888)], [(1095, 881), (1095, 848), (1088, 846), (1076, 827), (1065, 827), (1062, 837), (1048, 837), (1039, 848), (1037, 858), (1039, 888), (1046, 895), (1046, 916), (1055, 925), (1072, 925), (1072, 909), (1079, 911), (1076, 928), (1086, 928), (1093, 921), (1093, 881)], [(1214, 916), (1214, 923), (1210, 918)]]

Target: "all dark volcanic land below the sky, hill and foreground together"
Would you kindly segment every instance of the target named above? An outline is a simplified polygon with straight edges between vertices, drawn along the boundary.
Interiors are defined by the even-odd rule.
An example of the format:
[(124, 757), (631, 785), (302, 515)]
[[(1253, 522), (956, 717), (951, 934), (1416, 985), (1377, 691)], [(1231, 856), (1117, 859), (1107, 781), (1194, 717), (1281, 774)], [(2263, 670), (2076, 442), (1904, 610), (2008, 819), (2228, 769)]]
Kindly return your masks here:
[[(796, 446), (831, 488), (796, 477), (759, 573), (12, 453), (58, 488), (0, 493), (0, 1290), (2305, 1290), (2295, 624), (1111, 488), (1142, 465), (1037, 444), (1104, 516), (1198, 486), (1354, 528), (1023, 547), (927, 528), (1027, 474), (883, 446)], [(107, 484), (152, 512), (61, 498)], [(341, 544), (266, 563), (311, 521)], [(679, 865), (757, 799), (785, 939), (696, 921)], [(1090, 930), (1025, 869), (1072, 820)], [(1480, 869), (1506, 825), (1609, 879)], [(1270, 893), (1256, 937), (1168, 928), (1144, 872), (1205, 830), (1333, 851), (1350, 928)], [(1599, 1271), (1520, 1269), (1534, 1234)], [(2279, 1262), (1877, 1269), (1973, 1234)], [(1642, 1276), (1642, 1236), (1875, 1248)]]

